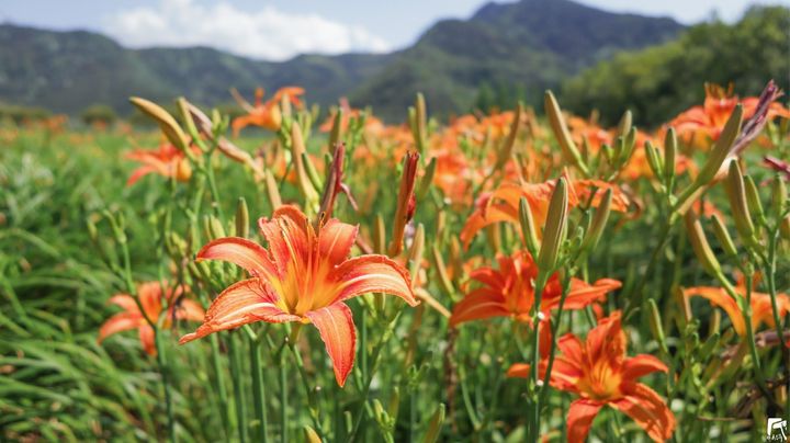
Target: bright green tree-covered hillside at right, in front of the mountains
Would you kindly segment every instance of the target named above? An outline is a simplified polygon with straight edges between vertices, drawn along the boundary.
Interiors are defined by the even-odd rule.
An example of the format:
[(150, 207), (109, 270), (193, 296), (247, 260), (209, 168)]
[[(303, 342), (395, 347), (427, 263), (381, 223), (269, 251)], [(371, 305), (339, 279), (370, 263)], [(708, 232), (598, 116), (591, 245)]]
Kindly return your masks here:
[[(613, 124), (630, 106), (634, 121), (656, 125), (704, 99), (707, 81), (756, 95), (774, 79), (790, 88), (790, 9), (753, 8), (734, 25), (703, 23), (678, 39), (621, 54), (568, 79), (563, 106), (594, 109)], [(780, 100), (787, 100), (782, 98)]]

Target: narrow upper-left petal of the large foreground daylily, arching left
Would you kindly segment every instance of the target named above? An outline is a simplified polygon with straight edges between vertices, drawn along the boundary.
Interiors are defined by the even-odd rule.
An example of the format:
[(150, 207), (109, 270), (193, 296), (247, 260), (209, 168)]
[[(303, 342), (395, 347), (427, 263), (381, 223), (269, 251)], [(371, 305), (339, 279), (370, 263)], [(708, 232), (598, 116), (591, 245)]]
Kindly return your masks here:
[(225, 237), (204, 246), (196, 260), (224, 260), (244, 268), (253, 277), (278, 275), (269, 252), (255, 241), (240, 237)]

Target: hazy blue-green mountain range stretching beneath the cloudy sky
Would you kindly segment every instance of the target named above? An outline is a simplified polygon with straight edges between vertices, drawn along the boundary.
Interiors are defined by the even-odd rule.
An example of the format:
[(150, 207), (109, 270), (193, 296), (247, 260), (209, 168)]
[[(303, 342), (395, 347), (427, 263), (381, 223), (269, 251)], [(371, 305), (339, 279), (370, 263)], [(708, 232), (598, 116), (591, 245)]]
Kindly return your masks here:
[(77, 113), (95, 103), (129, 112), (128, 95), (158, 101), (185, 95), (198, 103), (229, 101), (228, 88), (249, 94), (297, 84), (311, 102), (341, 95), (372, 104), (393, 121), (418, 91), (431, 112), (466, 112), (481, 86), (526, 91), (535, 99), (568, 75), (622, 49), (673, 38), (670, 19), (614, 14), (568, 0), (488, 3), (469, 20), (431, 26), (415, 45), (385, 55), (302, 55), (252, 60), (206, 47), (128, 49), (90, 32), (0, 25), (0, 102)]

